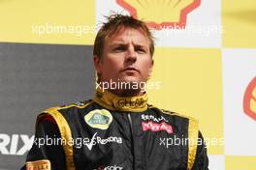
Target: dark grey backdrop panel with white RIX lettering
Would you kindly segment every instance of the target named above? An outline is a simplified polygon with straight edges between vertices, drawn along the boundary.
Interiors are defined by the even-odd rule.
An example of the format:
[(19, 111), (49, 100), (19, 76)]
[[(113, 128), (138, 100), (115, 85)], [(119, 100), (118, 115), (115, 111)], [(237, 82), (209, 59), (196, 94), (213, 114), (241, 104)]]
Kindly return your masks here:
[(93, 80), (92, 46), (0, 43), (0, 169), (25, 162), (41, 111), (91, 98)]

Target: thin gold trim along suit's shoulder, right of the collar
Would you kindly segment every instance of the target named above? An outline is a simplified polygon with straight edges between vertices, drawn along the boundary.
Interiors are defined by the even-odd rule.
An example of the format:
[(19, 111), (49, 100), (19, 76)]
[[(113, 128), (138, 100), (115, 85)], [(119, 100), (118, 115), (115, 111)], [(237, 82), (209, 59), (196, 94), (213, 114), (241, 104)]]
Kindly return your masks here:
[(154, 106), (154, 105), (149, 105), (149, 108), (150, 108), (150, 109), (155, 109), (155, 110), (157, 110), (160, 114), (164, 114), (164, 115), (166, 115), (166, 116), (176, 117), (176, 118), (179, 118), (179, 119), (184, 119), (184, 120), (189, 120), (189, 121), (198, 122), (197, 119), (195, 119), (195, 118), (193, 118), (193, 117), (191, 117), (191, 116), (185, 115), (185, 114), (183, 114), (183, 113), (171, 111), (171, 110), (168, 110), (168, 109), (159, 108), (159, 107)]

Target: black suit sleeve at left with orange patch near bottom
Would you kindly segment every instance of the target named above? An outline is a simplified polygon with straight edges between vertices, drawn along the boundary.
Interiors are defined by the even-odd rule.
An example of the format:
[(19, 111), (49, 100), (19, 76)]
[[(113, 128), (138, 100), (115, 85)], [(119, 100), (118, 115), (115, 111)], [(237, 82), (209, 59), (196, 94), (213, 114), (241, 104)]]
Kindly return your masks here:
[[(40, 163), (41, 168), (44, 166), (42, 170), (66, 169), (64, 149), (60, 143), (56, 143), (56, 139), (61, 139), (59, 128), (54, 120), (50, 118), (42, 120), (37, 125), (33, 146), (28, 152), (26, 164), (21, 170), (37, 169)], [(48, 166), (48, 164), (50, 165)], [(32, 168), (29, 166), (32, 166)]]

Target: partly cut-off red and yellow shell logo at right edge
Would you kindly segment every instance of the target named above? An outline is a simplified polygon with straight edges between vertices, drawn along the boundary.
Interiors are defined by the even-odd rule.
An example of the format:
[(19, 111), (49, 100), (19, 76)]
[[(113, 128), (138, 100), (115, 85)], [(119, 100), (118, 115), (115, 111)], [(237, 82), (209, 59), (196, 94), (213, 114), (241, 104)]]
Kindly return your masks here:
[(256, 77), (249, 83), (243, 97), (243, 111), (256, 121)]

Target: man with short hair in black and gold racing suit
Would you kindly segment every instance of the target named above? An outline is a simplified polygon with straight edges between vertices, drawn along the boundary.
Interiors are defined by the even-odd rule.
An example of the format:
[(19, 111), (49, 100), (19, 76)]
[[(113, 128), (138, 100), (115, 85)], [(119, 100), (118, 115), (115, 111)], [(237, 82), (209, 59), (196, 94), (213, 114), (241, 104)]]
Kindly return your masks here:
[[(94, 99), (42, 112), (21, 169), (207, 170), (197, 121), (148, 104), (143, 88), (134, 88), (150, 75), (153, 51), (143, 21), (109, 17), (94, 42)], [(130, 87), (105, 88), (111, 81)]]

